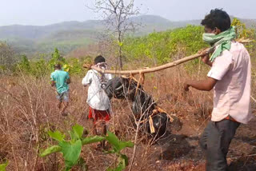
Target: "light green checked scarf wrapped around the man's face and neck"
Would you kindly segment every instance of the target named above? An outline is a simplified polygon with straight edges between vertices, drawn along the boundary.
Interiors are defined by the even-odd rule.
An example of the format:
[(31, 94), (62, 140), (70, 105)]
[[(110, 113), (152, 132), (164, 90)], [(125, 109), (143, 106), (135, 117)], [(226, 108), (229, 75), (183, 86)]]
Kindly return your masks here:
[(210, 57), (210, 62), (214, 62), (214, 59), (217, 58), (224, 50), (230, 50), (231, 41), (237, 37), (235, 33), (234, 26), (231, 26), (229, 30), (223, 31), (220, 34), (202, 34), (202, 39), (206, 43), (210, 44), (211, 50), (213, 50), (216, 46), (217, 49), (214, 50), (214, 53)]

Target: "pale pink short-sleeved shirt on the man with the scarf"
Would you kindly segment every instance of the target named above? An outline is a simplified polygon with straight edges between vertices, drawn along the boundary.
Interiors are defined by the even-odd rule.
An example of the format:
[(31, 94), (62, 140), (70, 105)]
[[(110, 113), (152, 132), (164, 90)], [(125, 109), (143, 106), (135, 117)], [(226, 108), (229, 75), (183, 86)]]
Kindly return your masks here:
[(218, 80), (214, 86), (214, 110), (212, 121), (221, 121), (233, 117), (246, 124), (253, 117), (250, 108), (250, 54), (238, 42), (231, 43), (231, 49), (225, 50), (215, 58), (207, 75)]

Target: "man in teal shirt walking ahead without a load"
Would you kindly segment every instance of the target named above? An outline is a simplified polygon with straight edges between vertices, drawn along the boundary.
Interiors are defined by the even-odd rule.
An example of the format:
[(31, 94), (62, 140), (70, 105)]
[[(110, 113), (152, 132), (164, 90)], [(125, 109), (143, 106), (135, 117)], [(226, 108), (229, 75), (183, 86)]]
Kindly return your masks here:
[(66, 71), (62, 70), (62, 66), (60, 64), (56, 64), (54, 66), (54, 70), (55, 71), (50, 74), (51, 85), (55, 85), (57, 90), (58, 109), (62, 116), (66, 116), (66, 108), (69, 105), (70, 75)]

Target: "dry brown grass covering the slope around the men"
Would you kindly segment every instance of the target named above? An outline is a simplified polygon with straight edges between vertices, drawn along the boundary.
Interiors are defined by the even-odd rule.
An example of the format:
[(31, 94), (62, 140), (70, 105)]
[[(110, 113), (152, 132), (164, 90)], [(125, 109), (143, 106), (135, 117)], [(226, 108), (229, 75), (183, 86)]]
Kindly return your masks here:
[[(205, 77), (203, 75), (205, 72), (195, 74), (194, 78)], [(35, 79), (22, 74), (0, 78), (0, 160), (10, 161), (7, 170), (62, 170), (64, 165), (61, 154), (52, 154), (46, 158), (38, 157), (41, 149), (55, 143), (47, 136), (47, 131), (58, 129), (66, 133), (76, 123), (83, 125), (89, 132), (92, 128), (91, 122), (86, 120), (88, 105), (86, 89), (81, 84), (82, 78), (72, 77), (68, 117), (58, 114), (54, 89), (50, 87), (48, 78), (46, 76)], [(204, 127), (204, 121), (210, 116), (212, 95), (197, 90), (184, 93), (182, 85), (189, 78), (180, 66), (148, 74), (144, 87), (162, 109), (167, 113), (176, 114), (182, 121), (189, 123), (188, 129), (183, 130), (186, 135), (197, 136)], [(132, 112), (129, 101), (113, 100), (112, 108), (113, 117), (109, 129), (116, 131), (118, 137), (124, 140), (134, 141), (136, 129), (130, 119)], [(177, 132), (173, 130), (173, 133)], [(162, 146), (170, 145), (170, 142), (176, 141), (177, 138), (170, 135), (157, 143), (162, 143), (160, 146), (152, 146), (139, 136), (132, 170), (158, 170), (156, 161), (160, 153), (162, 154)], [(114, 155), (106, 155), (91, 147), (88, 145), (82, 149), (82, 157), (89, 165), (89, 170), (106, 170), (114, 164)], [(177, 150), (175, 148), (178, 147), (173, 146), (170, 150)], [(131, 158), (133, 149), (126, 149), (124, 153)], [(166, 169), (163, 170), (174, 170), (170, 169), (171, 167), (173, 166), (164, 167)], [(181, 165), (177, 167), (182, 168)], [(196, 168), (194, 164), (193, 167)], [(191, 168), (192, 166), (190, 170), (194, 170)]]

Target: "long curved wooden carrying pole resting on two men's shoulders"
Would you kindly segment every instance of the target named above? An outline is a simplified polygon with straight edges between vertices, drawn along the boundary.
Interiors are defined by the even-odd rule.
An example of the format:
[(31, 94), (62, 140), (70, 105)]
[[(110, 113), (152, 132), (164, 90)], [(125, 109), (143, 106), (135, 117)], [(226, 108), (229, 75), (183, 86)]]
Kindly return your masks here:
[[(248, 42), (252, 42), (252, 40), (250, 39), (245, 39), (245, 38), (240, 38), (238, 40), (236, 40), (237, 42), (241, 42), (241, 43), (248, 43)], [(171, 68), (171, 67), (174, 67), (174, 66), (178, 66), (184, 62), (189, 62), (195, 58), (199, 58), (199, 57), (202, 57), (202, 56), (205, 56), (206, 54), (210, 54), (212, 53), (214, 50), (213, 48), (208, 48), (206, 50), (204, 50), (201, 54), (193, 54), (193, 55), (190, 55), (188, 57), (185, 57), (185, 58), (182, 58), (182, 59), (178, 59), (177, 61), (174, 61), (174, 62), (170, 62), (170, 63), (167, 63), (165, 65), (162, 65), (162, 66), (156, 66), (156, 67), (153, 67), (153, 68), (147, 68), (147, 69), (142, 69), (142, 70), (102, 70), (96, 66), (89, 66), (87, 64), (84, 64), (83, 67), (84, 68), (88, 68), (88, 69), (93, 69), (93, 70), (97, 70), (98, 72), (101, 72), (101, 73), (105, 73), (105, 74), (146, 74), (146, 73), (154, 73), (156, 71), (159, 71), (159, 70), (165, 70), (167, 68)]]

